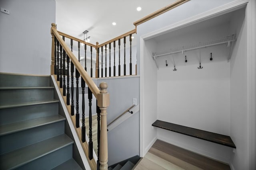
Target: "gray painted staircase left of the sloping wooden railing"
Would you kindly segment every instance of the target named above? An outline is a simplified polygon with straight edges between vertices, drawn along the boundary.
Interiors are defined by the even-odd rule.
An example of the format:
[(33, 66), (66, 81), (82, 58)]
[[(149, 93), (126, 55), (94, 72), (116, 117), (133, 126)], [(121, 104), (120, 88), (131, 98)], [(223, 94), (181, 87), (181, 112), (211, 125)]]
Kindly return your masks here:
[(50, 76), (0, 74), (0, 169), (82, 170)]

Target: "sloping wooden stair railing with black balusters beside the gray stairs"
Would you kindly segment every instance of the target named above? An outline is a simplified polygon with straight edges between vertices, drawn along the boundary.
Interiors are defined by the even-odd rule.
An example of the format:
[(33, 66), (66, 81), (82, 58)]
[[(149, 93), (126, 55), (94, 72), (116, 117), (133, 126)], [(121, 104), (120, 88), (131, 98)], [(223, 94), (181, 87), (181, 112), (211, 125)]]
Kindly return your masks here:
[[(108, 137), (107, 137), (107, 108), (109, 106), (109, 93), (107, 92), (108, 85), (106, 82), (100, 83), (100, 89), (92, 80), (92, 70), (91, 76), (86, 72), (86, 68), (79, 63), (79, 51), (78, 59), (72, 53), (73, 39), (74, 37), (69, 37), (71, 39), (70, 45), (71, 49), (65, 43), (64, 33), (60, 33), (56, 30), (55, 23), (52, 23), (51, 35), (52, 35), (52, 61), (51, 61), (51, 74), (54, 74), (57, 82), (59, 82), (60, 88), (63, 90), (63, 98), (66, 100), (66, 106), (70, 112), (74, 126), (78, 136), (80, 137), (80, 142), (84, 152), (88, 154), (88, 162), (91, 169), (108, 169)], [(77, 39), (76, 39), (77, 40)], [(92, 54), (93, 46), (89, 43)], [(80, 48), (80, 40), (78, 39), (78, 49)], [(86, 47), (85, 47), (86, 48)], [(91, 57), (92, 58), (92, 57)], [(69, 68), (69, 64), (71, 68)], [(91, 63), (92, 69), (92, 63)], [(76, 78), (76, 114), (74, 106), (74, 72)], [(70, 77), (71, 74), (71, 93), (70, 93)], [(82, 87), (82, 128), (79, 128), (79, 78), (81, 76), (81, 87)], [(67, 81), (66, 81), (67, 78)], [(86, 143), (86, 133), (85, 133), (85, 86), (88, 86), (88, 100), (89, 100), (89, 142)], [(96, 98), (96, 112), (98, 121), (98, 160), (97, 165), (93, 159), (93, 143), (92, 143), (92, 94)], [(70, 106), (70, 95), (71, 95), (71, 106)]]

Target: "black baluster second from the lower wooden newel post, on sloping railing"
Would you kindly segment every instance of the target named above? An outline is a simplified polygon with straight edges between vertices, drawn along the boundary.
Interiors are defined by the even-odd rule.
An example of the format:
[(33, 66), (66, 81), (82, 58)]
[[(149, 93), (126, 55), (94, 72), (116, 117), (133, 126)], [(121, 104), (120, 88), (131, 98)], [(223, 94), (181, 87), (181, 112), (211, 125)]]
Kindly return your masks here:
[(92, 160), (92, 91), (88, 88), (88, 100), (89, 100), (89, 159)]

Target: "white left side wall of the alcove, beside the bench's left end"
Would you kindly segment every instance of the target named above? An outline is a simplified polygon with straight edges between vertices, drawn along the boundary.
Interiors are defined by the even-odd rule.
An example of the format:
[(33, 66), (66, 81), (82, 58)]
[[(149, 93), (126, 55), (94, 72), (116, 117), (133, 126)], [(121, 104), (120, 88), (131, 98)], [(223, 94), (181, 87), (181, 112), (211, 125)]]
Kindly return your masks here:
[[(156, 129), (152, 127), (152, 123), (157, 118), (157, 68), (152, 57), (152, 52), (156, 50), (156, 43), (154, 41), (144, 42), (144, 51), (141, 60), (143, 61), (143, 70), (141, 71), (140, 80), (140, 98), (141, 98), (141, 111), (140, 115), (140, 156), (144, 156), (146, 152), (156, 141)], [(142, 95), (143, 94), (143, 95)]]

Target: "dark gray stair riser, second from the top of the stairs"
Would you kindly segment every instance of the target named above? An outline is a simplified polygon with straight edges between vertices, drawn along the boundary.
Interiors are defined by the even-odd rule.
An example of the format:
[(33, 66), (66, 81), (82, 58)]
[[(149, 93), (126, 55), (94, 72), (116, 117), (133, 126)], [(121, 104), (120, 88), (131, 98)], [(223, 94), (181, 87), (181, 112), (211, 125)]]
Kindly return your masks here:
[(0, 103), (32, 102), (53, 99), (53, 89), (0, 90)]

